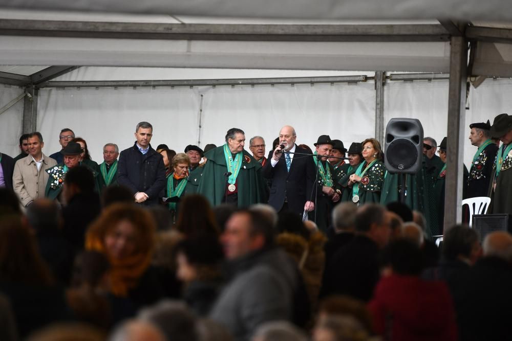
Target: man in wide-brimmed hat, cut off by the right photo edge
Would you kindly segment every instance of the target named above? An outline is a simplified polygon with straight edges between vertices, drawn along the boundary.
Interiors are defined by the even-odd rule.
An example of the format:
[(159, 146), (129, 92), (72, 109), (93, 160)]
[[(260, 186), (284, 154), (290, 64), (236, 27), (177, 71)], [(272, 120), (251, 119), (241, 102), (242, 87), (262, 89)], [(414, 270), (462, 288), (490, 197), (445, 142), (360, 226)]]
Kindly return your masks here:
[(498, 149), (494, 165), (489, 213), (512, 213), (512, 116), (498, 115), (490, 134), (503, 144)]

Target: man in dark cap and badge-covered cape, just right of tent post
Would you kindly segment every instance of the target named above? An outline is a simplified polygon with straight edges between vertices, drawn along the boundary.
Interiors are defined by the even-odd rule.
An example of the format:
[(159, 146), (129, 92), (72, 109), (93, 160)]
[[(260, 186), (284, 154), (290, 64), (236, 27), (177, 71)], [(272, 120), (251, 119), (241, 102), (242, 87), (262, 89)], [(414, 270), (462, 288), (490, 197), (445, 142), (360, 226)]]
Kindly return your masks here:
[(487, 196), (498, 147), (491, 140), (489, 121), (470, 124), (470, 129), (469, 139), (478, 149), (467, 177), (467, 197)]

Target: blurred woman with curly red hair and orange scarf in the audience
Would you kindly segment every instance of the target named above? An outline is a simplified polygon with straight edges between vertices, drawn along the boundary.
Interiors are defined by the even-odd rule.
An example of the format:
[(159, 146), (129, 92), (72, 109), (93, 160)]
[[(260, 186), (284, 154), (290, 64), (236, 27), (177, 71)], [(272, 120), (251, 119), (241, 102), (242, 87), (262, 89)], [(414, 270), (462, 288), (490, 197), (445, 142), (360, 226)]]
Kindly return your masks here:
[(106, 208), (91, 224), (86, 248), (106, 256), (110, 291), (129, 298), (135, 307), (157, 302), (164, 295), (150, 267), (155, 246), (155, 221), (146, 210), (118, 203)]

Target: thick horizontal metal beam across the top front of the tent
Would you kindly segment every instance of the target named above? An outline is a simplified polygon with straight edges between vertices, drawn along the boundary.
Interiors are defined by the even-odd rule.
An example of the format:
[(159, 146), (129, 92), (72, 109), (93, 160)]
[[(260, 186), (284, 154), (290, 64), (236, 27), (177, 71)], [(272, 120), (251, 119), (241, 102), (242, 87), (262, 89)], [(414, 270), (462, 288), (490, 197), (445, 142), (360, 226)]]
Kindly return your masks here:
[(0, 35), (245, 41), (447, 41), (437, 24), (246, 25), (0, 20)]

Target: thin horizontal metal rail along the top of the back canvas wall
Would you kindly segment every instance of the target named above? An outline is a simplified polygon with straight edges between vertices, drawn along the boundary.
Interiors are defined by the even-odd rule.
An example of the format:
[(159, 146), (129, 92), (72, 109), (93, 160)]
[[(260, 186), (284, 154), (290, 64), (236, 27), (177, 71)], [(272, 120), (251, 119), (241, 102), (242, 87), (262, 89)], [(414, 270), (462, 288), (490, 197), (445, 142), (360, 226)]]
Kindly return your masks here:
[(50, 81), (40, 83), (39, 87), (152, 87), (152, 86), (234, 86), (234, 85), (278, 85), (278, 84), (318, 84), (365, 82), (370, 77), (283, 77), (283, 78), (247, 78), (247, 79), (191, 79), (191, 80), (141, 80), (141, 81)]

